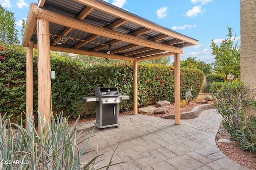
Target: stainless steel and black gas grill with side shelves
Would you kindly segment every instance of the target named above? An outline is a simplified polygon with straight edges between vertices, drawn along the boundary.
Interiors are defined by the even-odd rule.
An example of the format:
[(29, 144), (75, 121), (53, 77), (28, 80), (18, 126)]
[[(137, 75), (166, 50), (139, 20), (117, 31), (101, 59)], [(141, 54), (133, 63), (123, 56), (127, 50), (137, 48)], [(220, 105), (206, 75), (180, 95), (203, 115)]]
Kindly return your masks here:
[(93, 97), (84, 97), (86, 102), (96, 102), (96, 122), (99, 129), (118, 127), (120, 100), (127, 100), (129, 96), (120, 95), (117, 87), (96, 87)]

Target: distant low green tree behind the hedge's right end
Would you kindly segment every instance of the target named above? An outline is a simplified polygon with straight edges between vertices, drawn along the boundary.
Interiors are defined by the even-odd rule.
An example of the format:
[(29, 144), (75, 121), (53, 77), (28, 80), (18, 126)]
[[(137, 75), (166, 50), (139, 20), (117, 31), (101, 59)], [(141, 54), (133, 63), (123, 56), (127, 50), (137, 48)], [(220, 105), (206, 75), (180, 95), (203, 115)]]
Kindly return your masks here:
[(204, 63), (204, 61), (196, 60), (196, 57), (188, 57), (184, 61), (180, 61), (180, 67), (198, 69), (204, 72), (204, 74), (210, 74), (212, 72), (212, 66)]

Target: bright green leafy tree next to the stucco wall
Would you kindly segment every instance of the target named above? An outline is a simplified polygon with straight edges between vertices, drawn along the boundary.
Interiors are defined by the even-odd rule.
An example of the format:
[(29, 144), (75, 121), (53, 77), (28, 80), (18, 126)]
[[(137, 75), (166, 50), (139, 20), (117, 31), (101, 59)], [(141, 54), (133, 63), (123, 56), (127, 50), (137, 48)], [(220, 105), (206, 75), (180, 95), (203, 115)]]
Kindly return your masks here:
[(234, 78), (240, 77), (240, 45), (238, 42), (234, 44), (236, 36), (232, 35), (232, 28), (228, 27), (228, 35), (225, 40), (216, 45), (212, 39), (210, 45), (212, 55), (215, 55), (215, 61), (212, 63), (214, 71), (219, 74), (232, 74)]

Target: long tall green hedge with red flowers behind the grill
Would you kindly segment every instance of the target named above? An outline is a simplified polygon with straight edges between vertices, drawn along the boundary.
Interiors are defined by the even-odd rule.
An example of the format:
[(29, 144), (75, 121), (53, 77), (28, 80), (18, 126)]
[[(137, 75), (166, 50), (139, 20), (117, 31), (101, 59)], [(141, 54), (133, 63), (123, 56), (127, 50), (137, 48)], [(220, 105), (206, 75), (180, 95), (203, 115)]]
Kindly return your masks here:
[[(7, 47), (3, 47), (6, 51)], [(25, 49), (15, 47), (7, 59), (0, 60), (1, 100), (0, 112), (20, 115), (25, 111)], [(5, 52), (4, 51), (4, 52)], [(3, 69), (2, 69), (3, 68)], [(92, 64), (85, 66), (69, 57), (52, 53), (51, 69), (56, 71), (52, 79), (52, 106), (54, 112), (64, 110), (66, 115), (77, 117), (84, 114), (84, 96), (94, 96), (95, 86), (117, 86), (122, 95), (130, 100), (122, 100), (120, 111), (133, 106), (133, 66), (132, 63)], [(8, 70), (8, 74), (6, 71)], [(186, 89), (192, 86), (192, 95), (200, 91), (204, 74), (200, 70), (181, 68), (181, 99)], [(11, 84), (11, 85), (10, 85)], [(138, 64), (138, 105), (154, 104), (160, 100), (174, 101), (174, 68), (160, 64)], [(87, 103), (94, 113), (94, 102)], [(37, 57), (34, 57), (34, 112), (37, 104)]]

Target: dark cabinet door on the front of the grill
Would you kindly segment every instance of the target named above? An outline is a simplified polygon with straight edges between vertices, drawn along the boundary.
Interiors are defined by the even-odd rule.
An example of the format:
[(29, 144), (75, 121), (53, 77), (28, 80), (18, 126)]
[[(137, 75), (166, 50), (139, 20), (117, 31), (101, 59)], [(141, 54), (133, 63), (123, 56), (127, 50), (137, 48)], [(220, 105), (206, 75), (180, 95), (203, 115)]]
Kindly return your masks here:
[(116, 104), (102, 105), (102, 125), (114, 125), (118, 116)]

